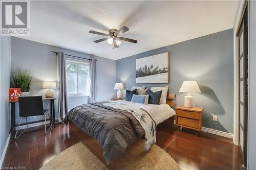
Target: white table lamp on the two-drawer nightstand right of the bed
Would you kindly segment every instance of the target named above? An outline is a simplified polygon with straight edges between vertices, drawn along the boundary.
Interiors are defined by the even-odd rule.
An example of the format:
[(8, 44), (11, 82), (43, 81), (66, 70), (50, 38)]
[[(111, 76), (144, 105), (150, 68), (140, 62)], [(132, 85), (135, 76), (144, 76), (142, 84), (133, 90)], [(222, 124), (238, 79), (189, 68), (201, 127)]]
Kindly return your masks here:
[(193, 108), (193, 96), (190, 93), (201, 93), (196, 81), (183, 81), (179, 92), (187, 93), (184, 97), (184, 107)]

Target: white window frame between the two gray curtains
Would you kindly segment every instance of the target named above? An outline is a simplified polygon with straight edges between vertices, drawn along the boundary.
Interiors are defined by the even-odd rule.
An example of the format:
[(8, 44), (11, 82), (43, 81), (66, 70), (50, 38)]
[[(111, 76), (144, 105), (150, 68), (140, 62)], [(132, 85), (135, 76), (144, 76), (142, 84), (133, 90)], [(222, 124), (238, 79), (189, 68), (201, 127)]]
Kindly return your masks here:
[[(80, 63), (80, 64), (85, 64), (85, 65), (89, 65), (89, 75), (90, 75), (90, 67), (91, 67), (91, 62), (90, 61), (87, 61), (86, 59), (84, 60), (78, 60), (78, 59), (74, 59), (74, 58), (69, 58), (69, 57), (66, 57), (66, 64), (67, 63), (75, 63), (76, 64), (76, 93), (68, 93), (68, 98), (74, 98), (74, 97), (83, 97), (83, 96), (90, 96), (90, 92), (87, 94), (87, 93), (78, 93), (77, 92), (77, 89), (78, 89), (78, 71), (77, 71), (77, 63)], [(65, 64), (65, 71), (66, 71), (66, 64)], [(67, 74), (67, 72), (66, 72)], [(68, 82), (66, 81), (66, 83), (68, 84)], [(89, 87), (90, 88), (90, 87)]]

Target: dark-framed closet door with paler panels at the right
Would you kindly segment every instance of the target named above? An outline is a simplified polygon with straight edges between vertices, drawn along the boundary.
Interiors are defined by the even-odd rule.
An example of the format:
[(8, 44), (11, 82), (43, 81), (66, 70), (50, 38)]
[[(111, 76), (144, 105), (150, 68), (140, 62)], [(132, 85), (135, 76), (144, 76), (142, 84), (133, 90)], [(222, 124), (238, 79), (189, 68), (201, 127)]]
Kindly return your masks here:
[(247, 6), (240, 24), (239, 39), (239, 147), (243, 166), (247, 164), (247, 116), (248, 116), (248, 25)]

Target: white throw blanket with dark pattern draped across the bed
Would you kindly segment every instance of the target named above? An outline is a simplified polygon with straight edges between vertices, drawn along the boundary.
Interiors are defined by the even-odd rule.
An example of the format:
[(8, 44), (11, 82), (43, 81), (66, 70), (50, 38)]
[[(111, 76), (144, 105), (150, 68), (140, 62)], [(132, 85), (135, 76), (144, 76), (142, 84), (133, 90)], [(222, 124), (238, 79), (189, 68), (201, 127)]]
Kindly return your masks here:
[(154, 120), (148, 113), (135, 105), (124, 104), (118, 102), (104, 103), (105, 106), (110, 106), (116, 109), (126, 110), (133, 114), (133, 116), (139, 121), (140, 125), (145, 131), (145, 144), (144, 150), (148, 151), (156, 143), (156, 125)]

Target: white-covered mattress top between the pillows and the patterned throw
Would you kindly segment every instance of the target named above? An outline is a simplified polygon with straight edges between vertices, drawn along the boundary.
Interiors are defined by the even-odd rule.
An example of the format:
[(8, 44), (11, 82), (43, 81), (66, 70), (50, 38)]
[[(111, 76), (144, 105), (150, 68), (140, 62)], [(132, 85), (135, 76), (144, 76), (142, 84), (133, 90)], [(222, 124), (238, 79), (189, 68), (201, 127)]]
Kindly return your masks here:
[(171, 108), (167, 104), (160, 104), (160, 105), (153, 105), (153, 104), (141, 104), (141, 103), (134, 103), (130, 101), (120, 100), (115, 101), (118, 103), (125, 103), (129, 104), (131, 106), (138, 106), (142, 109), (144, 109), (148, 114), (151, 115), (151, 117), (155, 120), (156, 124), (162, 123), (164, 120), (174, 116), (176, 113), (173, 108)]

